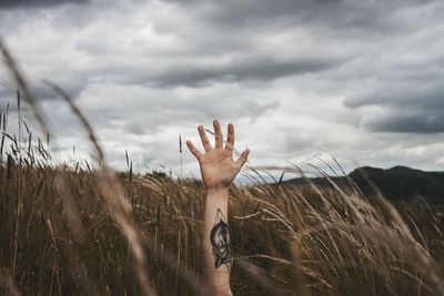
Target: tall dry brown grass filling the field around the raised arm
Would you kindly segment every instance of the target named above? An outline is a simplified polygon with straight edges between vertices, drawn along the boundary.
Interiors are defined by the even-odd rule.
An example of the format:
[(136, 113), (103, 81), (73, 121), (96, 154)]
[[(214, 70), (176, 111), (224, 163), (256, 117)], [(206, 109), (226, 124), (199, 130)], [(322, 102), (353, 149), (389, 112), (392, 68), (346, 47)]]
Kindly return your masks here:
[[(80, 118), (100, 165), (54, 166), (44, 141), (28, 127), (9, 134), (2, 113), (0, 294), (205, 295), (201, 183), (113, 172), (80, 110), (49, 85)], [(234, 295), (444, 295), (442, 207), (369, 198), (352, 181), (321, 188), (263, 174), (230, 191)]]

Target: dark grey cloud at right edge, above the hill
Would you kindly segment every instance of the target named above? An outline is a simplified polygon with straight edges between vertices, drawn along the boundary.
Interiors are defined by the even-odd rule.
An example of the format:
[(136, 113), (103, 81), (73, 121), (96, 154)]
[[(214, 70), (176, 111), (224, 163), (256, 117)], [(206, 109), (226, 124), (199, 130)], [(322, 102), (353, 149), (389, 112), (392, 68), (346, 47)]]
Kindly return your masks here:
[[(418, 70), (421, 71), (421, 70)], [(364, 118), (364, 127), (377, 132), (442, 133), (444, 132), (444, 86), (442, 76), (417, 80), (416, 83), (390, 81), (375, 86), (364, 96), (347, 98), (351, 109), (373, 106), (382, 111)]]

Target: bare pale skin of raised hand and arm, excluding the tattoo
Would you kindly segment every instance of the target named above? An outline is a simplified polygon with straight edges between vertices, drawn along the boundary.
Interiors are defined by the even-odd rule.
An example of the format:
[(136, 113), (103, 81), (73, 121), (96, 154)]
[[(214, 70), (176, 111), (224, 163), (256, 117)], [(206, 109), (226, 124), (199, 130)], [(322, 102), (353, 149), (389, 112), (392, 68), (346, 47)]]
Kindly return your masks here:
[[(234, 161), (234, 125), (230, 123), (228, 126), (225, 144), (223, 143), (223, 134), (219, 121), (213, 121), (213, 127), (214, 147), (211, 145), (202, 125), (199, 125), (198, 131), (205, 152), (200, 152), (191, 141), (186, 141), (186, 146), (199, 161), (203, 185), (206, 188), (202, 239), (204, 276), (208, 288), (211, 289), (213, 295), (219, 296), (232, 295), (230, 288), (231, 263), (224, 263), (220, 267), (215, 267), (210, 234), (219, 217), (218, 212), (222, 213), (223, 217), (228, 217), (229, 187), (246, 162), (250, 150), (245, 149), (241, 156)], [(224, 222), (228, 223), (228, 221)]]

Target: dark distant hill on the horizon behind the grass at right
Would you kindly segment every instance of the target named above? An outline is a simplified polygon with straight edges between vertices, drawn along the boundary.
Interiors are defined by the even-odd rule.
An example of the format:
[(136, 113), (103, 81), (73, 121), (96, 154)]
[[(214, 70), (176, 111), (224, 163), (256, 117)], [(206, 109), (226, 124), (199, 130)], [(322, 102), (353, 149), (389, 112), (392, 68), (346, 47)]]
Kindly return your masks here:
[[(375, 194), (373, 183), (389, 200), (412, 200), (423, 197), (427, 202), (444, 203), (444, 172), (424, 172), (406, 166), (395, 166), (389, 170), (363, 166), (349, 174), (361, 191), (372, 196)], [(346, 178), (332, 177), (339, 184), (345, 184)], [(324, 177), (312, 178), (316, 185), (326, 184)], [(289, 180), (285, 183), (303, 184), (303, 178)]]

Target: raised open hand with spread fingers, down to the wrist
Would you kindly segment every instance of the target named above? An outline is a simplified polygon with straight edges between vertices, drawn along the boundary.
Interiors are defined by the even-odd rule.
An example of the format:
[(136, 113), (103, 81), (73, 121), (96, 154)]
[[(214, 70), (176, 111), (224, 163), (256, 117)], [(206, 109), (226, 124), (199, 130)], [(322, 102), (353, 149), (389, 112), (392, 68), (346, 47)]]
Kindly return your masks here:
[(229, 187), (246, 162), (250, 153), (250, 150), (245, 149), (241, 156), (234, 161), (234, 125), (232, 123), (229, 124), (225, 146), (223, 145), (223, 135), (219, 121), (214, 120), (213, 126), (214, 147), (211, 146), (204, 127), (202, 125), (198, 127), (205, 153), (201, 153), (191, 141), (186, 141), (186, 146), (199, 161), (203, 184), (209, 190)]

